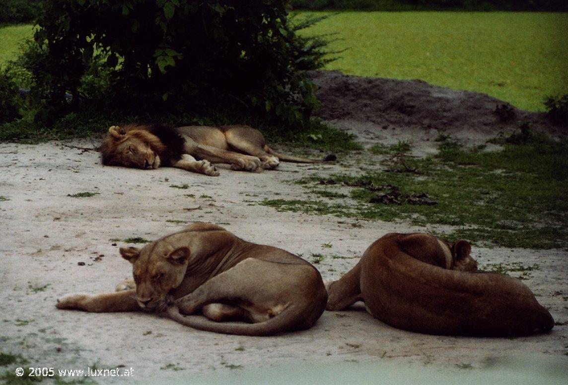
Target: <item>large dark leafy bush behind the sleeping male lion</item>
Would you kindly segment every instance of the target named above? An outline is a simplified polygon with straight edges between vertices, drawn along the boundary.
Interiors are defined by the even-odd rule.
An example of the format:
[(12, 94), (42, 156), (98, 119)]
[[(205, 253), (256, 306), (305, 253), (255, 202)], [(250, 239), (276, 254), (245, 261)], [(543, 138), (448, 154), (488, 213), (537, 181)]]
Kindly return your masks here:
[(325, 62), (321, 37), (296, 31), (285, 0), (45, 0), (23, 62), (36, 119), (70, 112), (222, 110), (305, 126), (318, 105), (304, 70)]

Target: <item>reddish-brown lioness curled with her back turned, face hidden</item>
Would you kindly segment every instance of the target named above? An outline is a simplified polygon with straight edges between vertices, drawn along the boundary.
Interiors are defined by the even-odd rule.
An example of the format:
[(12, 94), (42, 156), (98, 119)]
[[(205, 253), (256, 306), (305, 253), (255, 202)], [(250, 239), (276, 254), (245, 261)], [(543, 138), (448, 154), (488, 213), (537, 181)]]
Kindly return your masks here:
[(359, 263), (328, 286), (327, 310), (364, 301), (375, 318), (435, 335), (518, 336), (548, 332), (552, 316), (515, 278), (473, 273), (465, 240), (387, 234)]

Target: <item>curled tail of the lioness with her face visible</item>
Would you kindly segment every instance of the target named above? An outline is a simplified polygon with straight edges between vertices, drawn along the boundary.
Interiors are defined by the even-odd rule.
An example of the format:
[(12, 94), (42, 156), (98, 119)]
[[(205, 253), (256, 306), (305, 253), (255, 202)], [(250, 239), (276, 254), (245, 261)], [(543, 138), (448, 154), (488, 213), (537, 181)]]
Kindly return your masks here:
[(239, 322), (216, 322), (199, 315), (181, 315), (177, 306), (171, 306), (166, 310), (168, 316), (190, 328), (203, 330), (206, 332), (235, 334), (240, 336), (272, 336), (280, 332), (290, 330), (294, 321), (300, 318), (300, 308), (291, 305), (285, 308), (280, 314), (268, 321), (254, 324)]

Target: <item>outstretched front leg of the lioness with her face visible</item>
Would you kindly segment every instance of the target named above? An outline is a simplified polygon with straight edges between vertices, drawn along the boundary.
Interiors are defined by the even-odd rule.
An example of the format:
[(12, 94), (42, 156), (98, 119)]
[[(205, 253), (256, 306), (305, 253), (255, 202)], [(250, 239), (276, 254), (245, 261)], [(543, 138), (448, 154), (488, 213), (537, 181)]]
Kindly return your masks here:
[(76, 309), (88, 312), (139, 311), (136, 290), (116, 291), (110, 294), (71, 294), (58, 299), (58, 309)]

